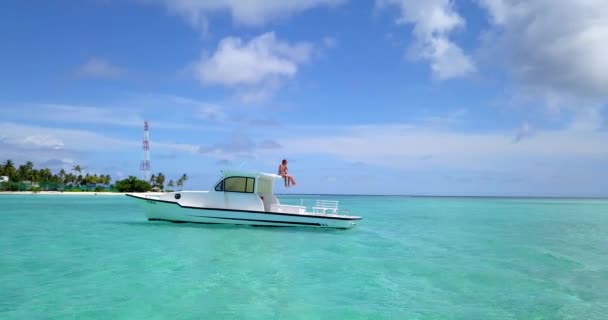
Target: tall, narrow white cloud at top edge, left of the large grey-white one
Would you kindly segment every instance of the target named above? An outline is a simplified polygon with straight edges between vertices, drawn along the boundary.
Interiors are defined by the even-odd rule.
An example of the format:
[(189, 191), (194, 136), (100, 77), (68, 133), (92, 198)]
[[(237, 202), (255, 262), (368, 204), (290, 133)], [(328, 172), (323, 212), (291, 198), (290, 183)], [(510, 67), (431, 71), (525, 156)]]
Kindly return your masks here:
[(410, 47), (416, 59), (428, 60), (433, 76), (439, 80), (458, 78), (475, 71), (464, 51), (449, 39), (449, 34), (464, 28), (464, 19), (450, 0), (377, 0), (379, 7), (399, 6), (397, 24), (413, 25), (416, 42)]

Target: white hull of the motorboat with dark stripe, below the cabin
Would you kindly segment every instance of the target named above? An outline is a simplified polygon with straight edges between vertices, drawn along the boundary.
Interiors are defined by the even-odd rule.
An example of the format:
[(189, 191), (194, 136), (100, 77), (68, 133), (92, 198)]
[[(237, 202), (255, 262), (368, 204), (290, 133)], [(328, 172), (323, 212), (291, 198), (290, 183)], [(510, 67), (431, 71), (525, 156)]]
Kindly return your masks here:
[(143, 205), (150, 221), (192, 222), (205, 224), (236, 224), (272, 227), (316, 227), (349, 229), (360, 217), (331, 214), (285, 214), (183, 206), (178, 202), (128, 195)]

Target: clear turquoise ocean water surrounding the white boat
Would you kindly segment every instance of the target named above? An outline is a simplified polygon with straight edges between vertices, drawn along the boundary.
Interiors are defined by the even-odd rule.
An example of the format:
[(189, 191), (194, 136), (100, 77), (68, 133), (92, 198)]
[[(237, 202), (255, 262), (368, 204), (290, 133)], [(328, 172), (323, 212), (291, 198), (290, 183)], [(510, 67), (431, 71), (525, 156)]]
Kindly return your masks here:
[(607, 200), (324, 198), (364, 220), (171, 224), (122, 196), (2, 195), (0, 319), (608, 319)]

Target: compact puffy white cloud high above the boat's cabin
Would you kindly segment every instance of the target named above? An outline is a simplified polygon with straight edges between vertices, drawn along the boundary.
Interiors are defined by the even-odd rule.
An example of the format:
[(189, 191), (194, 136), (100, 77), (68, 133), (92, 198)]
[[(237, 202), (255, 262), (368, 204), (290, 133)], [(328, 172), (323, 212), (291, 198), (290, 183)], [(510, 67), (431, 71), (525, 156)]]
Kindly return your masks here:
[(241, 100), (255, 102), (268, 98), (281, 82), (292, 78), (301, 64), (310, 60), (314, 46), (308, 42), (290, 44), (274, 32), (249, 41), (227, 37), (217, 50), (194, 64), (202, 84), (237, 88)]

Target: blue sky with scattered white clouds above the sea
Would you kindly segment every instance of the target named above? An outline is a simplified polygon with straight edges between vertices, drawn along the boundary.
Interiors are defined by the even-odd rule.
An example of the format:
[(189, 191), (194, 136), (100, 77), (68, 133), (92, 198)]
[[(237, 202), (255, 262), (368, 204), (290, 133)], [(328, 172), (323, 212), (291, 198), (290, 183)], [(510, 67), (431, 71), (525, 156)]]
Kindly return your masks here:
[[(542, 13), (542, 14), (541, 14)], [(0, 158), (206, 189), (608, 195), (605, 1), (19, 1)]]

